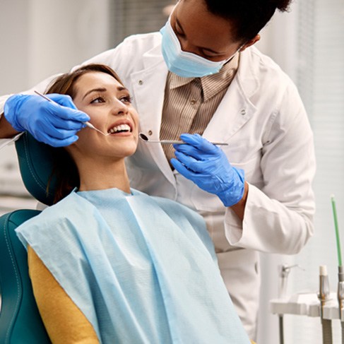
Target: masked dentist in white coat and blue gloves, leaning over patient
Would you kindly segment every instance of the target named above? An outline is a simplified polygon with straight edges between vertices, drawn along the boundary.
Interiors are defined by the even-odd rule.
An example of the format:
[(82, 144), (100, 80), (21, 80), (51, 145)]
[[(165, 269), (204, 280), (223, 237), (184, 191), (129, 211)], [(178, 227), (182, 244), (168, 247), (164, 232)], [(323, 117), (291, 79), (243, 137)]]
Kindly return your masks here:
[[(140, 143), (127, 160), (131, 185), (203, 215), (250, 338), (259, 307), (258, 251), (297, 254), (313, 233), (307, 114), (290, 78), (254, 47), (275, 10), (289, 4), (180, 0), (160, 32), (128, 37), (85, 62), (118, 71), (150, 139), (186, 143)], [(44, 92), (47, 83), (35, 89)], [(0, 98), (0, 137), (30, 131), (52, 146), (76, 141), (88, 116), (69, 97), (56, 96), (61, 107), (52, 107), (32, 90)]]

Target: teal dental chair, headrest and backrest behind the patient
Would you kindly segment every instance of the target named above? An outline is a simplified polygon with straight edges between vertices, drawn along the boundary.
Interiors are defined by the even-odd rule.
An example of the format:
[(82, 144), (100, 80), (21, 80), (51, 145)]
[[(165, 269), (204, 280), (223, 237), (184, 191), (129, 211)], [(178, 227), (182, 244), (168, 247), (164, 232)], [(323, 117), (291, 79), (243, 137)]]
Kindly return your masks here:
[[(52, 205), (55, 180), (47, 194), (52, 171), (50, 148), (25, 133), (16, 141), (20, 173), (30, 194)], [(51, 343), (37, 309), (28, 275), (27, 251), (16, 236), (16, 227), (40, 210), (16, 210), (0, 217), (0, 343)]]

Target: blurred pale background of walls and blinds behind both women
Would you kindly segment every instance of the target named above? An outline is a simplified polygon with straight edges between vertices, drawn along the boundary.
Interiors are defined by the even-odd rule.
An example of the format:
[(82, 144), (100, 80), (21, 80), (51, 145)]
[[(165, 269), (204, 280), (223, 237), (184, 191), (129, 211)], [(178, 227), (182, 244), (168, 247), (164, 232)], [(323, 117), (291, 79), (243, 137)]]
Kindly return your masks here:
[[(53, 73), (69, 71), (124, 37), (159, 30), (175, 1), (170, 0), (0, 0), (0, 94), (18, 93)], [(290, 271), (287, 292), (319, 288), (326, 265), (336, 292), (336, 237), (331, 194), (336, 195), (344, 239), (344, 1), (295, 0), (290, 13), (275, 13), (257, 45), (295, 81), (314, 130), (317, 174), (314, 182), (314, 237), (300, 254), (261, 254), (263, 287), (258, 344), (278, 343), (278, 316), (269, 300), (277, 297), (278, 266)], [(304, 157), (307, 159), (307, 157)], [(0, 214), (35, 208), (20, 180), (13, 146), (0, 151)], [(286, 344), (320, 344), (319, 318), (286, 315)], [(333, 343), (340, 343), (333, 321)]]

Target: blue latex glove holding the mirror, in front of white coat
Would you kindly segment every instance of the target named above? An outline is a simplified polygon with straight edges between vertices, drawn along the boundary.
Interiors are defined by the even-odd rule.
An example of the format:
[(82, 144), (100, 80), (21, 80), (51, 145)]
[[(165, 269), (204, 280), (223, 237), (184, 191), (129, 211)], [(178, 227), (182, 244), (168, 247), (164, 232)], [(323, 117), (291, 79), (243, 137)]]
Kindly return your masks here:
[(198, 134), (182, 134), (184, 145), (173, 145), (177, 159), (173, 167), (204, 191), (217, 195), (227, 207), (244, 194), (244, 170), (230, 165), (225, 153)]

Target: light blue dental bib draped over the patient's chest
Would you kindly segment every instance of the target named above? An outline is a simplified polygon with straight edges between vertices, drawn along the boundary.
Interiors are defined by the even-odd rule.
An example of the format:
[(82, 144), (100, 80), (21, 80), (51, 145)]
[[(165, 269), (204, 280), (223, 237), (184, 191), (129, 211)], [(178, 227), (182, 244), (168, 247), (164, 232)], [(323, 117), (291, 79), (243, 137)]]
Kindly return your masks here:
[(201, 216), (132, 192), (72, 192), (18, 237), (101, 343), (249, 343)]

